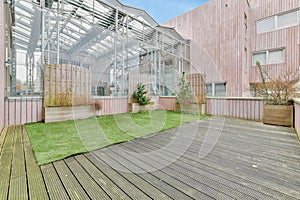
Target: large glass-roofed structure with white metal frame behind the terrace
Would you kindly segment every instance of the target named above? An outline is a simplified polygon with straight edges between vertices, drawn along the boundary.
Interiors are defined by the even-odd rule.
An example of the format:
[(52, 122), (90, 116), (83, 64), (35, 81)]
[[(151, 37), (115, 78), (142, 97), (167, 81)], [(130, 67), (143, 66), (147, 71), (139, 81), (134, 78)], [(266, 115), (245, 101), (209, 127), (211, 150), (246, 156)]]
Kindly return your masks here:
[[(148, 73), (152, 95), (164, 95), (189, 71), (188, 40), (117, 0), (14, 0), (7, 2), (7, 13), (6, 35), (12, 38), (6, 47), (11, 52), (7, 96), (20, 95), (18, 88), (42, 95), (45, 64), (89, 68), (94, 93), (103, 87), (104, 95), (113, 96), (128, 95), (128, 73)], [(18, 66), (22, 53), (25, 66)], [(22, 67), (26, 77), (17, 87)]]

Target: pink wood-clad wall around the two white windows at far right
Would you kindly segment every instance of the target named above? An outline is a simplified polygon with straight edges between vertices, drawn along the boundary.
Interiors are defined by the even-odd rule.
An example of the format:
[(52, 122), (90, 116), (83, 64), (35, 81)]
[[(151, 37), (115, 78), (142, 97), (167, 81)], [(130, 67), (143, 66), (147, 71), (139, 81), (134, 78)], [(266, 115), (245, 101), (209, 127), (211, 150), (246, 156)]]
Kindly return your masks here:
[[(285, 13), (300, 7), (299, 0), (250, 0), (251, 19), (251, 49), (259, 52), (267, 49), (285, 48), (284, 63), (265, 65), (271, 77), (278, 77), (286, 72), (294, 72), (300, 66), (300, 25), (277, 31), (257, 34), (256, 21), (270, 16)], [(260, 82), (257, 67), (250, 68), (250, 82)]]

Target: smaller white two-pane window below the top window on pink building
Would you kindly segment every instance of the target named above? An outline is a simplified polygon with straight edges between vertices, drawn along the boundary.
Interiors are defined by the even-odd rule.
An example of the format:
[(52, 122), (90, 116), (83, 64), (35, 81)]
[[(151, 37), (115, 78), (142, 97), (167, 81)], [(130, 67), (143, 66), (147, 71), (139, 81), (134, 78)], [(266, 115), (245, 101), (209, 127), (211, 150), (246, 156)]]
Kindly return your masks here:
[(255, 66), (257, 61), (260, 62), (261, 65), (284, 63), (284, 49), (253, 53), (252, 66)]

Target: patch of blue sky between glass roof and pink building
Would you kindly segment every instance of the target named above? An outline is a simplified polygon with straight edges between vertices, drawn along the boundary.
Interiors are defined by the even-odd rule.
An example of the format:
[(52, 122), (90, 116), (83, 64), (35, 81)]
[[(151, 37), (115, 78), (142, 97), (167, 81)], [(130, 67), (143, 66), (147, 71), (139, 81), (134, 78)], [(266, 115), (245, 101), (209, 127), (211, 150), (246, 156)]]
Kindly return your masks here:
[(209, 0), (119, 0), (122, 4), (145, 10), (159, 24), (167, 22)]

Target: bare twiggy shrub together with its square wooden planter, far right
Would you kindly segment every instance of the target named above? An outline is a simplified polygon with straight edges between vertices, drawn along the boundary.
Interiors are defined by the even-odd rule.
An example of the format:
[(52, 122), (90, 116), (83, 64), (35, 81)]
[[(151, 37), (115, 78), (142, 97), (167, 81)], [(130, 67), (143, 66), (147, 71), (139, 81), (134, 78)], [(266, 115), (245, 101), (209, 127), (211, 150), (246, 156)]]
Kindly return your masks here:
[(297, 73), (286, 73), (277, 78), (258, 67), (261, 83), (257, 84), (256, 94), (263, 96), (265, 105), (263, 109), (263, 123), (281, 126), (293, 126), (293, 101), (299, 77)]

